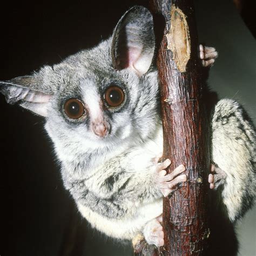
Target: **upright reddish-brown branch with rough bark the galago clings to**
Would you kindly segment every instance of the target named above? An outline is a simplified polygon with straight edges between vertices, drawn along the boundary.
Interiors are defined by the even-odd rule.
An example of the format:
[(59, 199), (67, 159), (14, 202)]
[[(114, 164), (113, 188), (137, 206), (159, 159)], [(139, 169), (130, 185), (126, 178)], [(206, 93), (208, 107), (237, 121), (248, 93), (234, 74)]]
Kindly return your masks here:
[(142, 250), (137, 253), (202, 255), (210, 234), (207, 225), (209, 133), (193, 1), (151, 0), (150, 8), (156, 24), (158, 16), (165, 24), (157, 58), (164, 158), (172, 160), (168, 172), (184, 164), (188, 180), (169, 198), (164, 198), (164, 247), (151, 254)]

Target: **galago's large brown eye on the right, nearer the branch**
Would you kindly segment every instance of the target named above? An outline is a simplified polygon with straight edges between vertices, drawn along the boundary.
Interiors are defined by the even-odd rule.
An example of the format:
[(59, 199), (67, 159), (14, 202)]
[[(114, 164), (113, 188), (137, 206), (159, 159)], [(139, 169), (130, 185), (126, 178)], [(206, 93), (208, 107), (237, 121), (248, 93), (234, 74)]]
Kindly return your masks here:
[(110, 86), (104, 93), (104, 99), (111, 107), (120, 106), (124, 102), (124, 91), (118, 86)]

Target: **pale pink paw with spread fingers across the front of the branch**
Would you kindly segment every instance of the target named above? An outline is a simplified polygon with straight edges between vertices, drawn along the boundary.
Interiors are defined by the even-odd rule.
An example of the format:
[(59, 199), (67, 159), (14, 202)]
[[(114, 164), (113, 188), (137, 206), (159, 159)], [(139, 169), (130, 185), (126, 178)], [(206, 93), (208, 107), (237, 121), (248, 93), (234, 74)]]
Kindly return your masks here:
[(179, 175), (186, 170), (184, 165), (179, 165), (171, 173), (166, 174), (167, 172), (164, 169), (170, 164), (170, 159), (157, 164), (157, 186), (160, 188), (164, 197), (167, 197), (172, 191), (176, 190), (179, 183), (187, 181), (186, 174)]

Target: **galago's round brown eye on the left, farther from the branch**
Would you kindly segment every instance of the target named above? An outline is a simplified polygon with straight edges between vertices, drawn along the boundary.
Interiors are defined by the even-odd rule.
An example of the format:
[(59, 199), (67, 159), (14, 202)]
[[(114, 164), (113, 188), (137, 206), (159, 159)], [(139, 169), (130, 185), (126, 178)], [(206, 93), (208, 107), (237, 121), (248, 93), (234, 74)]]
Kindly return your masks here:
[(84, 104), (79, 99), (68, 99), (64, 104), (64, 111), (71, 119), (78, 119), (85, 113)]

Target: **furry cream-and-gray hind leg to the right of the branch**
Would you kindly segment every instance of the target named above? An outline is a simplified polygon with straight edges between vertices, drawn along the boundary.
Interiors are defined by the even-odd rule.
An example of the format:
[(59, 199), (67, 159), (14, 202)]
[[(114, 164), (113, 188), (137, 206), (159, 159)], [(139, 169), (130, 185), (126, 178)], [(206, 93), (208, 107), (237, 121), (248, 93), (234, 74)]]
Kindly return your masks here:
[(242, 217), (255, 198), (255, 129), (234, 100), (222, 99), (212, 119), (212, 160), (226, 173), (220, 189), (228, 218)]

